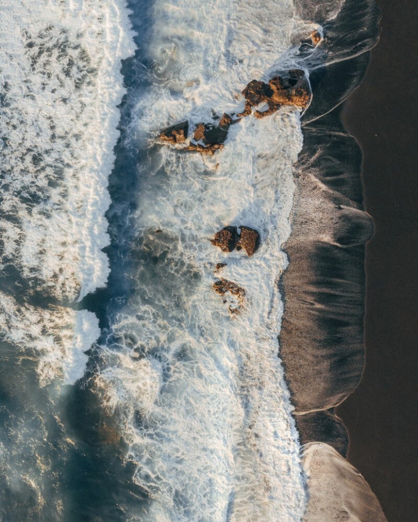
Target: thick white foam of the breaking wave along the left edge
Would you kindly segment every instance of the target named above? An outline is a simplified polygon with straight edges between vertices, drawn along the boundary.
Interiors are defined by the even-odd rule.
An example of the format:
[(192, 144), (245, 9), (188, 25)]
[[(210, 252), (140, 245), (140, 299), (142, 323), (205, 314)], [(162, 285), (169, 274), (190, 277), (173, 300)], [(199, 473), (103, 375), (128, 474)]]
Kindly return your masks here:
[[(123, 0), (6, 0), (0, 11), (1, 264), (17, 269), (30, 294), (82, 299), (106, 284), (109, 271), (101, 249), (109, 242), (107, 180), (125, 92), (121, 60), (133, 52), (128, 10)], [(30, 294), (22, 295), (29, 303)], [(33, 312), (12, 322), (22, 319), (30, 330), (31, 317), (44, 312), (23, 309)], [(61, 307), (46, 314), (54, 328), (59, 317), (64, 329), (70, 322), (77, 338), (88, 315)], [(92, 328), (71, 357), (97, 338)], [(84, 354), (67, 360), (65, 382), (83, 373), (84, 362)]]

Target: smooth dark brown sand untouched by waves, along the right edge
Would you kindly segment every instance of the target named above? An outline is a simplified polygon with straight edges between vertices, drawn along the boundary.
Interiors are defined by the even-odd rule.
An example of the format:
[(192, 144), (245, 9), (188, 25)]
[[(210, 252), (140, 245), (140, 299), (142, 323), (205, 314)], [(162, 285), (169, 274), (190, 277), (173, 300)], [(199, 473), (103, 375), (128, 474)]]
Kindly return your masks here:
[(345, 103), (343, 121), (363, 149), (365, 207), (376, 232), (366, 248), (366, 366), (337, 408), (348, 460), (389, 522), (418, 513), (418, 45), (416, 0), (378, 0), (379, 45)]

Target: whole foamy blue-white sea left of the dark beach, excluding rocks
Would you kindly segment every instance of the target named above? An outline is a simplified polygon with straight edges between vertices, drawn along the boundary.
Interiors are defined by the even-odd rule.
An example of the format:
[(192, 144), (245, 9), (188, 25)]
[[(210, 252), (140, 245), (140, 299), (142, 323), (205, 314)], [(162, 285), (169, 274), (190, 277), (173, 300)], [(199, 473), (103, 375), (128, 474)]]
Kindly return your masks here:
[[(372, 41), (344, 40), (348, 4), (322, 4), (0, 2), (2, 520), (307, 513), (284, 244), (302, 124), (363, 69), (333, 98), (315, 88)], [(292, 69), (307, 110), (243, 118), (213, 156), (160, 143), (237, 118), (248, 82)], [(224, 227), (256, 230), (258, 250), (214, 246)]]

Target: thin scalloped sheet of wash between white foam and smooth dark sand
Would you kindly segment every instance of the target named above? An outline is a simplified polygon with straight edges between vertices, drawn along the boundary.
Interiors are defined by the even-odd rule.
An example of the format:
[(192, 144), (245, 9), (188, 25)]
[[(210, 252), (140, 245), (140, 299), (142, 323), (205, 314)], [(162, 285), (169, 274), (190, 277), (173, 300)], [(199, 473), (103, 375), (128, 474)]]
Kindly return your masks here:
[[(346, 16), (340, 13), (332, 25), (340, 35), (348, 30), (360, 35), (353, 25), (363, 23), (369, 40), (357, 42), (364, 52), (348, 63), (336, 63), (311, 76), (315, 103), (302, 127), (292, 232), (285, 244), (289, 266), (280, 281), (285, 301), (280, 357), (309, 477), (307, 521), (317, 520), (319, 513), (326, 513), (327, 520), (336, 519), (346, 491), (356, 499), (345, 506), (346, 514), (386, 520), (361, 476), (354, 493), (358, 472), (345, 460), (349, 436), (334, 413), (363, 373), (364, 244), (374, 230), (363, 208), (361, 150), (345, 130), (338, 105), (366, 73), (369, 50), (377, 43), (378, 13), (367, 2), (347, 2), (345, 8)], [(328, 112), (327, 106), (335, 109)], [(337, 487), (327, 482), (328, 475)]]

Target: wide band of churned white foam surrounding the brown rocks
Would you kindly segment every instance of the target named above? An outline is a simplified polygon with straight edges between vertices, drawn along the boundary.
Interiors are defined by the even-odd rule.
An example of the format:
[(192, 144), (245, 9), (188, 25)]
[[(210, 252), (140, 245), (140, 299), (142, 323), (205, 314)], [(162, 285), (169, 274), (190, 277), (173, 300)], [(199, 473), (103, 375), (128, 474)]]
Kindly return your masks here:
[[(287, 1), (157, 0), (153, 12), (154, 85), (132, 125), (141, 147), (165, 125), (238, 112), (248, 81), (298, 65), (292, 42), (311, 29)], [(231, 126), (213, 158), (165, 147), (139, 165), (135, 291), (112, 326), (118, 342), (102, 347), (96, 382), (125, 425), (135, 480), (152, 499), (141, 520), (303, 516), (277, 341), (281, 245), (301, 145), (299, 113), (288, 107)], [(210, 238), (225, 226), (258, 230), (261, 247), (251, 258), (221, 252)], [(218, 263), (227, 266), (216, 276)], [(219, 277), (245, 290), (240, 314), (212, 290)]]

